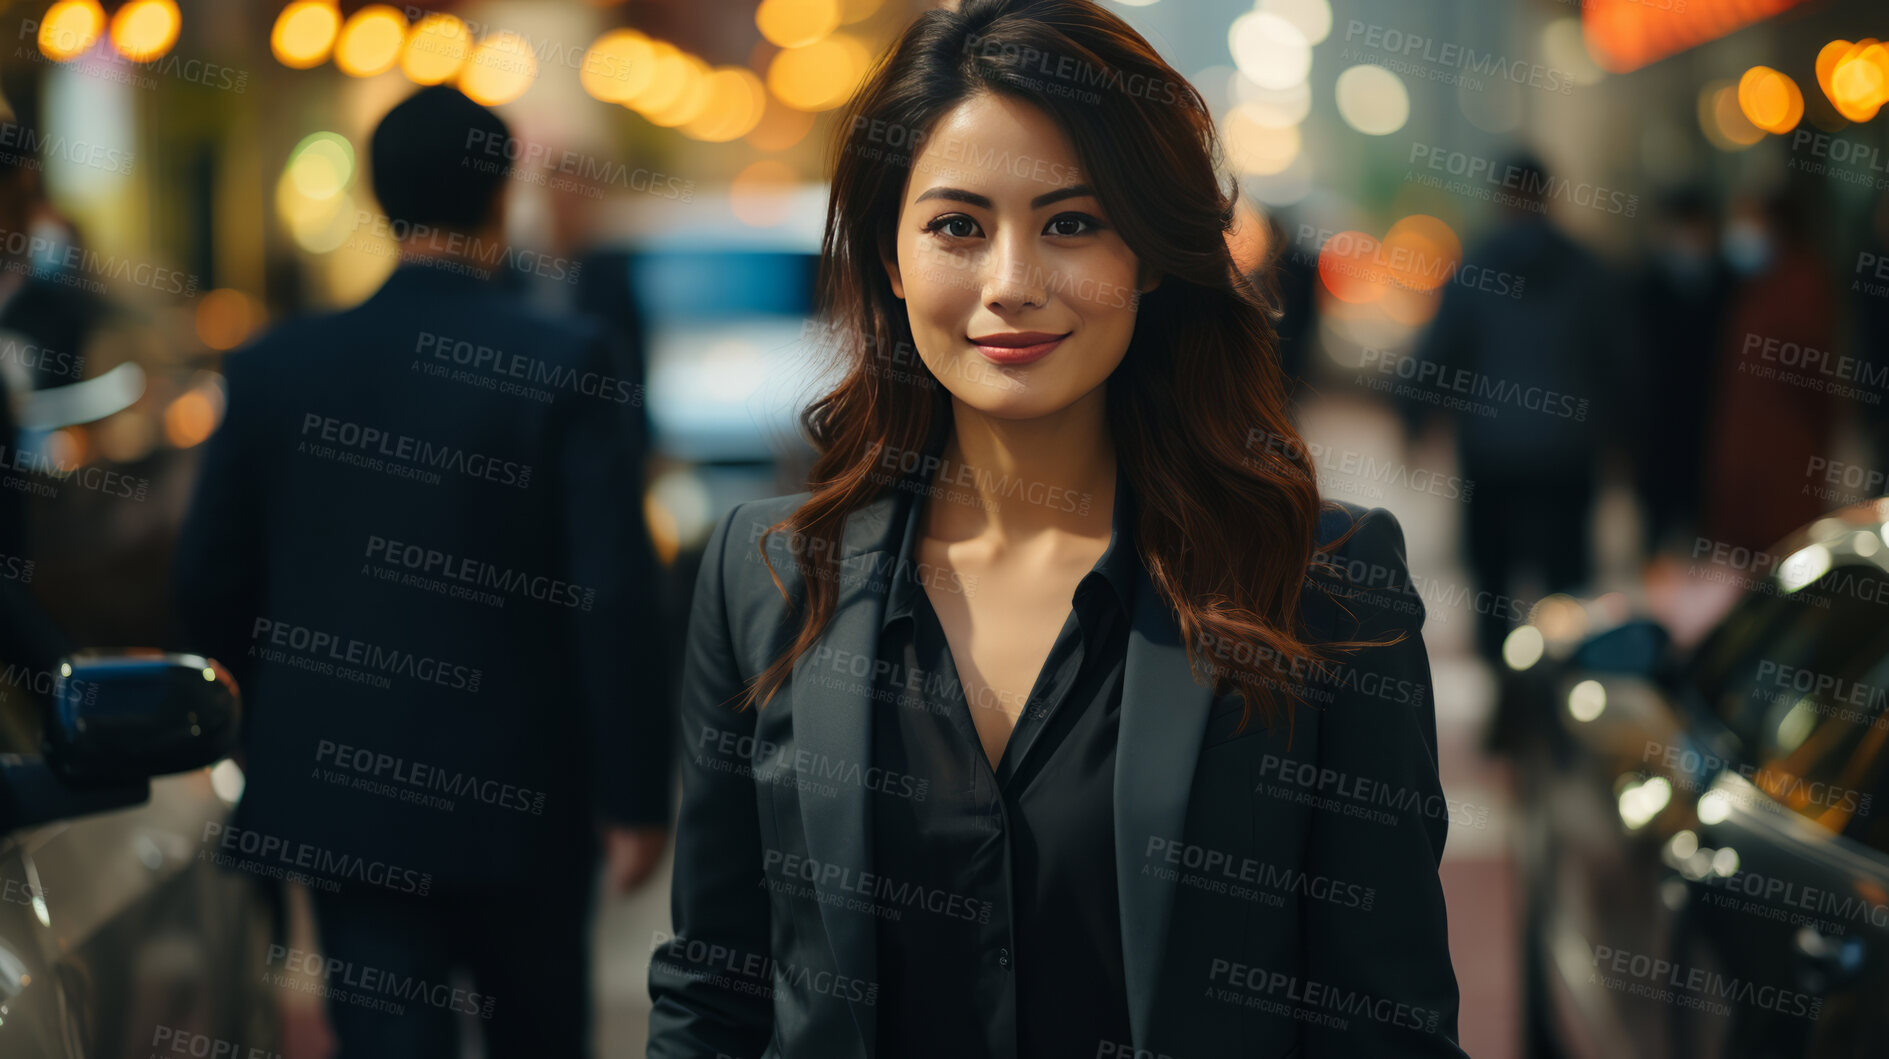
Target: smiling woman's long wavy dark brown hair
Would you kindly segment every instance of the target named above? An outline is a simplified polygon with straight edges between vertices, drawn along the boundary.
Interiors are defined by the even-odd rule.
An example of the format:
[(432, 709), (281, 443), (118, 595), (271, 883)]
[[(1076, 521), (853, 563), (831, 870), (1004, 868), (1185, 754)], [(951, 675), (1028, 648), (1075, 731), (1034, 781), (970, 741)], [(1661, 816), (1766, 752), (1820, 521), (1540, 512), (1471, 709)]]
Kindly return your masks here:
[[(1273, 319), (1228, 249), (1237, 185), (1220, 187), (1213, 115), (1141, 34), (1090, 0), (926, 11), (841, 113), (818, 300), (844, 376), (801, 415), (816, 451), (812, 496), (767, 530), (801, 542), (790, 551), (807, 614), (740, 706), (765, 708), (833, 617), (846, 515), (897, 485), (878, 470), (886, 451), (935, 453), (948, 436), (950, 393), (916, 357), (909, 372), (888, 370), (912, 334), (884, 261), (895, 257), (912, 140), (922, 142), (914, 132), (977, 92), (1047, 111), (1122, 240), (1160, 274), (1139, 296), (1133, 338), (1107, 383), (1109, 430), (1137, 500), (1135, 540), (1196, 672), (1205, 646), (1241, 644), (1232, 655), (1251, 661), (1205, 672), (1217, 695), (1239, 685), (1241, 727), (1256, 714), (1269, 725), (1277, 693), (1300, 700), (1298, 681), (1281, 674), (1324, 661), (1300, 629), (1319, 485), (1286, 415)], [(759, 549), (774, 572), (765, 536)], [(778, 574), (774, 585), (788, 597)]]

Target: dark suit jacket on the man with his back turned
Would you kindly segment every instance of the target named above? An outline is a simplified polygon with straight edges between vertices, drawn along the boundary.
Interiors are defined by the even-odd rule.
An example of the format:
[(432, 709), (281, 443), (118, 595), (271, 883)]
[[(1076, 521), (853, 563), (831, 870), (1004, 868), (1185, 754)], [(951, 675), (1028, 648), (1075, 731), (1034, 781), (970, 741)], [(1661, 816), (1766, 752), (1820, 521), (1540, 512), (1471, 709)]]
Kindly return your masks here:
[[(434, 885), (531, 885), (587, 855), (597, 817), (667, 823), (674, 655), (627, 427), (640, 389), (604, 330), (410, 264), (223, 370), (174, 593), (183, 646), (244, 693), (236, 825)], [(389, 563), (376, 538), (453, 564)]]

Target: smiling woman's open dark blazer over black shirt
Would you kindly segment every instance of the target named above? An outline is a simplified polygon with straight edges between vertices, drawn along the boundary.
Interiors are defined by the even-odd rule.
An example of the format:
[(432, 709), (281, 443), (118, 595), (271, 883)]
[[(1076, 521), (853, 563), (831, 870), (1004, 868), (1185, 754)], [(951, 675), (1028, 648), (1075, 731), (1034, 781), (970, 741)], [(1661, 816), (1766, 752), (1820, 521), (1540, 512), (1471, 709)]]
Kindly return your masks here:
[[(650, 965), (650, 1055), (875, 1055), (871, 661), (899, 498), (850, 515), (839, 606), (761, 712), (742, 691), (795, 630), (761, 530), (807, 493), (740, 504), (697, 578), (682, 678), (674, 936)], [(1319, 527), (1353, 585), (1307, 587), (1317, 636), (1379, 640), (1309, 693), (1292, 732), (1234, 734), (1237, 695), (1196, 681), (1143, 572), (1128, 642), (1113, 870), (1133, 1042), (1096, 1055), (1462, 1055), (1438, 861), (1449, 827), (1404, 534), (1385, 510)], [(769, 555), (795, 600), (786, 534)], [(1371, 815), (1387, 814), (1387, 815)], [(1098, 866), (1098, 870), (1107, 870)], [(996, 963), (992, 972), (999, 972)], [(886, 1057), (897, 1059), (897, 1057)]]

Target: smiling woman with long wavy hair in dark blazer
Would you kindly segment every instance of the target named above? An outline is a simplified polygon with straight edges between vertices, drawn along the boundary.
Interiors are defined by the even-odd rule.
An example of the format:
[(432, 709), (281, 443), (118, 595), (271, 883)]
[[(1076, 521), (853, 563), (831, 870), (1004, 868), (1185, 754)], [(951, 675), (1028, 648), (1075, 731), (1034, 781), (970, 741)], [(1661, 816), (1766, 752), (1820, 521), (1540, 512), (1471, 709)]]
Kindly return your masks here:
[(695, 587), (650, 1055), (1462, 1055), (1422, 604), (1213, 142), (1090, 0), (929, 11), (850, 104), (814, 489)]

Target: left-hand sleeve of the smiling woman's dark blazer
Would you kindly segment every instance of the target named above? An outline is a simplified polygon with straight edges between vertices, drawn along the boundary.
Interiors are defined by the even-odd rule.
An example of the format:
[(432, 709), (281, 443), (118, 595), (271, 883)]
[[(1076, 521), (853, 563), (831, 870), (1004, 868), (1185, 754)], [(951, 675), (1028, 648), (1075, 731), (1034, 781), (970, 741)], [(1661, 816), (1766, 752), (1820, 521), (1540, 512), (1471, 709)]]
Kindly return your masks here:
[(650, 1059), (756, 1059), (773, 1036), (769, 902), (761, 887), (761, 823), (746, 755), (756, 710), (727, 625), (723, 570), (729, 527), (703, 551), (682, 659), (682, 814), (671, 880), (674, 934), (650, 957)]

